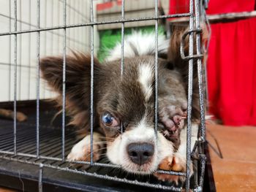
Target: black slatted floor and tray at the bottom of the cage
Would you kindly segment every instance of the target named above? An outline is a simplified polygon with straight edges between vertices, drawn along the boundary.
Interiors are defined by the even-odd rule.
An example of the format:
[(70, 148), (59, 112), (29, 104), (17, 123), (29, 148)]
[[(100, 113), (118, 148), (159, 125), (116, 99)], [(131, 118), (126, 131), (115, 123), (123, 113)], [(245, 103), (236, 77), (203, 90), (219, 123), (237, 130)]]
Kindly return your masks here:
[[(0, 105), (1, 108), (1, 105)], [(34, 107), (33, 107), (34, 108)], [(21, 111), (24, 111), (20, 108)], [(35, 108), (34, 108), (35, 109)], [(34, 110), (25, 110), (29, 119), (24, 123), (17, 123), (17, 152), (36, 155), (36, 113)], [(61, 118), (56, 118), (51, 125), (51, 120), (56, 111), (42, 110), (39, 118), (39, 152), (40, 155), (61, 158)], [(72, 146), (78, 142), (73, 128), (66, 128), (65, 131), (65, 155), (67, 156)], [(13, 121), (0, 119), (0, 150), (13, 151)], [(0, 153), (1, 155), (1, 153)], [(42, 164), (50, 164), (61, 168), (75, 169), (68, 162), (45, 160), (24, 157), (22, 155), (4, 155), (8, 158), (20, 161), (29, 161)], [(105, 161), (103, 159), (102, 161)], [(79, 169), (78, 169), (79, 170)], [(134, 176), (121, 172), (119, 169), (102, 168), (93, 166), (87, 172), (108, 174), (134, 180)], [(39, 166), (24, 164), (18, 161), (10, 161), (0, 158), (0, 185), (24, 191), (38, 190)], [(155, 184), (159, 183), (153, 176), (136, 177), (136, 180)], [(117, 181), (103, 180), (96, 177), (89, 177), (74, 172), (60, 171), (56, 169), (43, 169), (43, 190), (44, 191), (162, 191), (161, 189), (148, 188), (146, 186), (132, 185)]]

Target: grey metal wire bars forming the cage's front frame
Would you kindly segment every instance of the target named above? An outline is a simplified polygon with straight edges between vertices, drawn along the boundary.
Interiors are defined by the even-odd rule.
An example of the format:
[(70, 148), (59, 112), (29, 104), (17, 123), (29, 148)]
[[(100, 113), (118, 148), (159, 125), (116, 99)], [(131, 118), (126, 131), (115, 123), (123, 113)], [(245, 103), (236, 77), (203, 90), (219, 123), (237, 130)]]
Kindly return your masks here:
[[(188, 83), (188, 109), (187, 109), (187, 163), (186, 163), (186, 172), (167, 172), (163, 170), (158, 170), (158, 173), (165, 173), (165, 174), (173, 174), (173, 175), (179, 175), (179, 176), (186, 176), (186, 182), (185, 182), (185, 189), (186, 191), (189, 191), (190, 188), (190, 181), (189, 181), (189, 175), (190, 175), (190, 163), (192, 161), (192, 158), (194, 157), (195, 150), (197, 148), (198, 150), (198, 160), (200, 162), (200, 175), (199, 175), (199, 181), (197, 183), (197, 188), (194, 189), (194, 191), (202, 191), (203, 190), (203, 177), (205, 173), (205, 166), (206, 166), (206, 155), (204, 154), (204, 142), (206, 141), (206, 127), (205, 127), (205, 106), (204, 106), (204, 88), (203, 88), (203, 69), (202, 69), (202, 53), (201, 53), (201, 45), (200, 45), (200, 33), (202, 32), (200, 28), (200, 17), (202, 15), (205, 16), (205, 12), (202, 12), (207, 7), (208, 1), (201, 1), (201, 0), (189, 0), (189, 12), (188, 13), (181, 13), (181, 14), (173, 14), (173, 15), (159, 15), (158, 14), (158, 0), (155, 1), (155, 12), (153, 17), (148, 18), (132, 18), (132, 19), (126, 19), (125, 18), (125, 11), (124, 11), (124, 0), (121, 0), (121, 20), (110, 20), (110, 21), (94, 21), (94, 1), (91, 0), (91, 18), (89, 23), (79, 23), (79, 24), (70, 24), (67, 25), (67, 0), (64, 0), (64, 10), (63, 10), (63, 20), (64, 25), (63, 26), (54, 26), (54, 27), (40, 27), (40, 0), (37, 0), (37, 28), (29, 29), (29, 30), (20, 30), (18, 31), (17, 28), (17, 0), (13, 0), (14, 3), (14, 15), (15, 15), (15, 22), (14, 22), (14, 31), (4, 32), (0, 33), (0, 37), (3, 36), (13, 36), (14, 37), (14, 98), (13, 98), (13, 110), (14, 110), (14, 120), (13, 120), (13, 151), (6, 151), (6, 150), (0, 150), (0, 158), (7, 159), (10, 161), (18, 161), (26, 164), (34, 164), (38, 166), (39, 169), (39, 176), (38, 176), (38, 190), (42, 191), (42, 184), (43, 184), (43, 169), (45, 168), (51, 168), (56, 170), (64, 170), (66, 172), (74, 172), (78, 174), (84, 174), (89, 175), (92, 177), (98, 177), (100, 179), (104, 180), (114, 180), (122, 183), (129, 183), (129, 184), (135, 184), (135, 185), (142, 185), (147, 186), (151, 188), (158, 188), (158, 189), (164, 189), (164, 190), (170, 190), (170, 191), (182, 191), (183, 188), (178, 188), (174, 186), (167, 186), (167, 185), (156, 185), (151, 183), (143, 183), (139, 182), (138, 180), (127, 180), (127, 179), (121, 179), (118, 177), (110, 177), (108, 175), (101, 175), (97, 173), (89, 173), (86, 171), (78, 171), (73, 169), (64, 169), (59, 166), (52, 166), (50, 164), (42, 164), (42, 163), (35, 163), (33, 161), (21, 161), (18, 158), (13, 158), (8, 155), (15, 155), (15, 156), (23, 156), (23, 157), (30, 157), (30, 158), (37, 158), (37, 159), (45, 159), (45, 160), (54, 160), (54, 161), (62, 161), (62, 162), (69, 162), (69, 163), (76, 163), (76, 164), (87, 164), (90, 166), (102, 166), (102, 167), (112, 167), (112, 168), (120, 168), (120, 166), (116, 166), (113, 164), (102, 164), (97, 163), (93, 161), (93, 153), (91, 153), (91, 161), (68, 161), (65, 157), (65, 126), (66, 126), (66, 112), (65, 112), (65, 101), (66, 101), (66, 56), (67, 56), (67, 28), (78, 28), (78, 27), (85, 27), (89, 26), (91, 28), (91, 104), (90, 104), (90, 132), (91, 132), (91, 140), (93, 140), (93, 132), (94, 132), (94, 27), (98, 25), (105, 25), (110, 23), (121, 23), (121, 75), (124, 71), (124, 30), (125, 30), (125, 23), (127, 22), (137, 22), (137, 21), (143, 21), (143, 20), (155, 20), (155, 131), (157, 132), (157, 109), (158, 109), (158, 20), (160, 19), (167, 19), (167, 18), (184, 18), (189, 17), (189, 31), (187, 31), (186, 34), (184, 34), (184, 37), (189, 36), (189, 55), (185, 56), (184, 54), (184, 47), (181, 43), (181, 56), (183, 56), (184, 59), (188, 61), (189, 65), (189, 83)], [(39, 66), (40, 66), (40, 32), (42, 31), (52, 31), (56, 29), (61, 29), (64, 34), (63, 38), (63, 81), (62, 81), (62, 124), (61, 124), (61, 149), (62, 149), (62, 155), (61, 158), (53, 158), (45, 155), (40, 155), (40, 146), (39, 146), (39, 118), (40, 118), (40, 99), (39, 99), (39, 92), (40, 92), (40, 86), (39, 86)], [(18, 153), (17, 152), (17, 84), (18, 84), (18, 64), (17, 64), (17, 58), (18, 58), (18, 34), (27, 34), (27, 33), (36, 33), (37, 34), (37, 120), (36, 120), (36, 130), (37, 130), (37, 153), (36, 155), (32, 155), (29, 153)], [(195, 35), (195, 38), (194, 38)], [(194, 46), (196, 48), (196, 53), (194, 53)], [(198, 77), (198, 85), (199, 85), (199, 100), (200, 100), (200, 138), (198, 138), (198, 142), (195, 144), (194, 149), (191, 149), (191, 136), (192, 136), (192, 77), (193, 77), (193, 62), (197, 61), (197, 77)], [(121, 131), (123, 131), (121, 127)], [(91, 142), (91, 152), (93, 151), (93, 143)]]

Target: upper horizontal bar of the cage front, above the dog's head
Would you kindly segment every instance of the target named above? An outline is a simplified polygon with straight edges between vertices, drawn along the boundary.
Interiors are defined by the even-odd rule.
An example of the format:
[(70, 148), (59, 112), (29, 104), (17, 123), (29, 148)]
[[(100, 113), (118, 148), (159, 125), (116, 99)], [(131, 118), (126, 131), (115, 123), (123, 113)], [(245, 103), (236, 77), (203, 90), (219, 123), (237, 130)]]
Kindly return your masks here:
[(31, 30), (23, 30), (23, 31), (12, 31), (12, 32), (1, 33), (0, 36), (7, 36), (12, 34), (27, 34), (27, 33), (33, 33), (38, 31), (50, 31), (50, 30), (56, 30), (61, 28), (76, 28), (76, 27), (83, 27), (83, 26), (97, 26), (97, 25), (105, 25), (105, 24), (112, 24), (112, 23), (128, 23), (128, 22), (136, 22), (136, 21), (143, 21), (143, 20), (157, 20), (157, 19), (167, 19), (167, 18), (182, 18), (182, 17), (189, 17), (189, 16), (190, 16), (189, 13), (181, 13), (181, 14), (174, 14), (174, 15), (161, 15), (158, 17), (98, 21), (98, 22), (91, 22), (91, 23), (73, 24), (69, 26), (56, 26), (56, 27), (49, 27), (49, 28), (34, 28)]

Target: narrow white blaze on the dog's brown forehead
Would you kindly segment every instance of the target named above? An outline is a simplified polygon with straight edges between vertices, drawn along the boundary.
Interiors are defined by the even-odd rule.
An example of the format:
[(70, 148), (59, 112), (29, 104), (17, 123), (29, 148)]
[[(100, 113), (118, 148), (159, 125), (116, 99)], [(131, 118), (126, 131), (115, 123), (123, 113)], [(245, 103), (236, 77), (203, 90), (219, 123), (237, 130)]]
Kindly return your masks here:
[(143, 88), (143, 93), (146, 101), (151, 97), (153, 88), (152, 88), (152, 80), (154, 78), (154, 67), (149, 64), (140, 64), (138, 66), (139, 77), (138, 80)]

